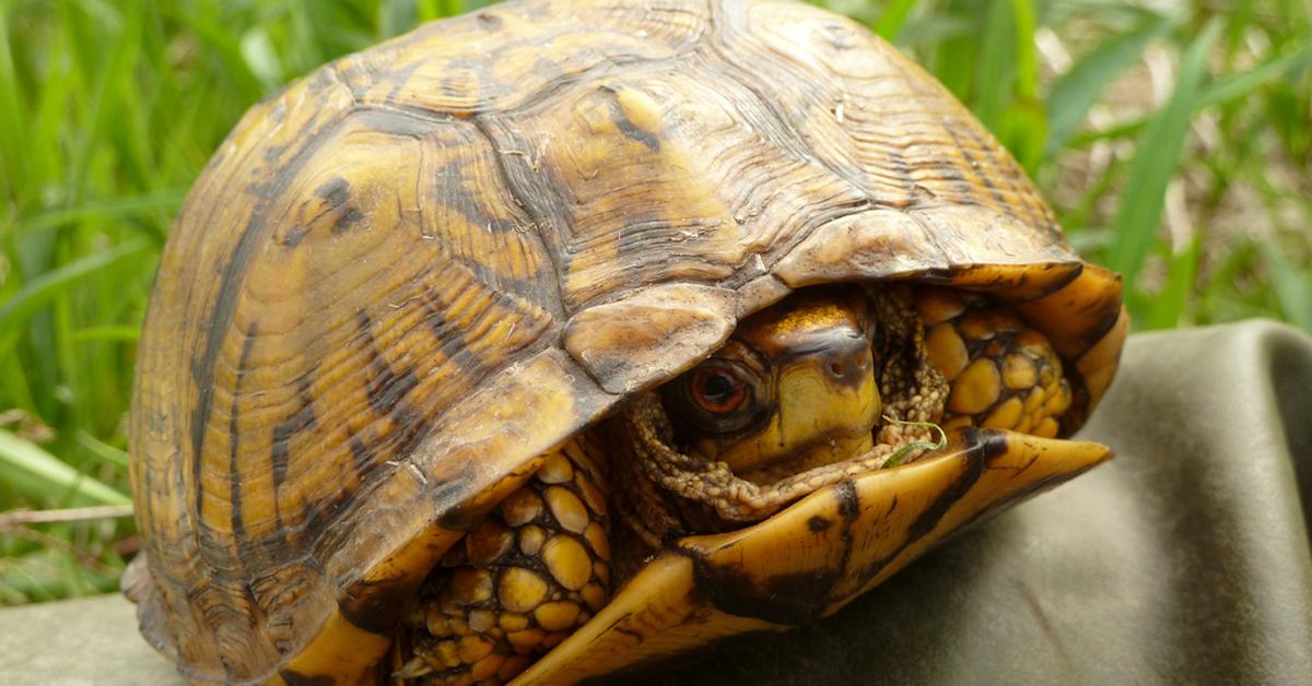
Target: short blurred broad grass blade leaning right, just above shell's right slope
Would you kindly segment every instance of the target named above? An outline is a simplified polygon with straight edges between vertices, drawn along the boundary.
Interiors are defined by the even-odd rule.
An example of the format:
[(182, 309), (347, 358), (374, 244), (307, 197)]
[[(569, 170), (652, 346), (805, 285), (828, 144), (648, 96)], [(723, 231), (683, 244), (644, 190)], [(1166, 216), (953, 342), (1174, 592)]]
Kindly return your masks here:
[(1052, 156), (1065, 147), (1089, 114), (1089, 108), (1102, 97), (1107, 84), (1138, 62), (1148, 43), (1165, 34), (1170, 26), (1166, 17), (1152, 14), (1130, 31), (1102, 42), (1081, 56), (1052, 84), (1048, 93), (1046, 155)]

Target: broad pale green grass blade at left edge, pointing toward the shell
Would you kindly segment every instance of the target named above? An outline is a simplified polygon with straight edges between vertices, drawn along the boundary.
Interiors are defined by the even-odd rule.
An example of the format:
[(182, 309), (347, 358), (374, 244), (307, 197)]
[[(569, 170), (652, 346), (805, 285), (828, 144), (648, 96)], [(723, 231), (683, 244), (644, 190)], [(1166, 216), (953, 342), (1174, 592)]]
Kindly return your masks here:
[(4, 429), (0, 429), (0, 476), (13, 489), (38, 500), (71, 505), (131, 504), (127, 496)]

